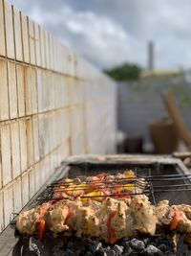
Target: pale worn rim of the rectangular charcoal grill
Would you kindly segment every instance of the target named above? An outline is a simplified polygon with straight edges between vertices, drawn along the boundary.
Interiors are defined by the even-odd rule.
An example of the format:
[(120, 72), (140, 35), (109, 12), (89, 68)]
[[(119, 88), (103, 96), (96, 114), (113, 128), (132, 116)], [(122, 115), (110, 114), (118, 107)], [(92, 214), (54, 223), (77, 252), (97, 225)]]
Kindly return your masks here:
[[(189, 170), (182, 163), (180, 159), (171, 156), (155, 156), (155, 155), (82, 155), (72, 156), (62, 162), (61, 166), (57, 168), (54, 175), (46, 182), (40, 191), (29, 201), (29, 203), (22, 209), (29, 210), (37, 205), (37, 198), (46, 189), (47, 185), (54, 180), (61, 177), (76, 176), (77, 172), (83, 170), (83, 175), (90, 170), (107, 168), (124, 170), (124, 168), (155, 168), (155, 172), (159, 175), (162, 166), (169, 166), (176, 170), (177, 174), (188, 175)], [(79, 168), (80, 167), (80, 168)], [(109, 170), (108, 170), (109, 171)], [(74, 173), (73, 173), (74, 172)], [(90, 174), (91, 175), (91, 174)], [(0, 247), (2, 255), (12, 255), (12, 249), (18, 242), (18, 237), (14, 236), (16, 218), (11, 221), (10, 225), (0, 234)]]

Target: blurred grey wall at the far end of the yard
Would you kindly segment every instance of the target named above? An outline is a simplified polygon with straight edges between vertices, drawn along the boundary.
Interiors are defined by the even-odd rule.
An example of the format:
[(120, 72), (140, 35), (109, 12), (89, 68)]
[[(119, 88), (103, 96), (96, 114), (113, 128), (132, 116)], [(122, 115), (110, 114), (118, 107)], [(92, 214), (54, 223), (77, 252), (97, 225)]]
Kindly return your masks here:
[(184, 81), (139, 81), (117, 86), (117, 126), (129, 135), (150, 141), (148, 123), (168, 116), (161, 94), (170, 90), (180, 106), (183, 119), (191, 129), (191, 85)]

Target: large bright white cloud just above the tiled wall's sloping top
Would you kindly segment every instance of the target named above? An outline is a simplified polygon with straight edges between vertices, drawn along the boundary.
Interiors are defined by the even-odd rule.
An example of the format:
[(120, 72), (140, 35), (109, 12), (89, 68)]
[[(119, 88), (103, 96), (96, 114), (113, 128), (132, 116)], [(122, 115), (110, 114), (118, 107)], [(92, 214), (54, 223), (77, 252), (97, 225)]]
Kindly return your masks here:
[(77, 12), (65, 6), (58, 13), (40, 12), (34, 7), (30, 16), (40, 24), (59, 27), (59, 37), (101, 67), (142, 58), (140, 44), (120, 24), (94, 12)]

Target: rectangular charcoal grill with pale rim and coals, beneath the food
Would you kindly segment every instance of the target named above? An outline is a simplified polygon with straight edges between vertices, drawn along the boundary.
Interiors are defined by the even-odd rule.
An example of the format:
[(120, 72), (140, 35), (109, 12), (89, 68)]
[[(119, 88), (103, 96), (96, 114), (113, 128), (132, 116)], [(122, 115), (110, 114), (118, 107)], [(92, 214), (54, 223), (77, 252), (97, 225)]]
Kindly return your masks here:
[[(34, 198), (25, 207), (30, 209), (33, 206), (41, 204), (42, 202), (49, 201), (53, 198), (54, 189), (59, 189), (60, 182), (63, 177), (76, 178), (85, 177), (88, 175), (97, 175), (99, 173), (117, 174), (122, 173), (125, 170), (133, 170), (136, 173), (136, 178), (130, 178), (128, 180), (114, 180), (113, 183), (105, 182), (106, 186), (112, 187), (116, 185), (134, 184), (135, 187), (143, 188), (138, 178), (145, 179), (147, 185), (143, 188), (142, 194), (146, 194), (150, 200), (156, 204), (161, 199), (169, 199), (171, 204), (187, 203), (191, 204), (189, 197), (191, 190), (191, 174), (189, 170), (182, 164), (179, 159), (175, 159), (170, 156), (142, 156), (142, 155), (112, 155), (112, 156), (73, 156), (62, 162), (61, 167), (57, 169), (55, 175), (48, 183), (41, 189), (41, 191), (35, 195)], [(58, 181), (56, 181), (58, 180)], [(84, 180), (85, 182), (89, 182)], [(63, 185), (63, 184), (62, 184)], [(64, 184), (66, 185), (66, 184)], [(75, 188), (72, 188), (75, 191)], [(139, 194), (135, 190), (133, 194)], [(116, 196), (116, 195), (112, 195)], [(98, 196), (97, 196), (98, 197)], [(105, 197), (105, 196), (101, 196)], [(62, 247), (62, 253), (64, 253), (62, 240), (60, 238), (53, 238), (50, 234), (46, 234), (45, 242), (41, 243), (36, 238), (21, 238), (18, 234), (14, 233), (15, 221), (11, 222), (11, 225), (0, 235), (0, 246), (2, 248), (2, 255), (67, 255), (61, 254), (60, 246)], [(154, 239), (154, 238), (153, 238)], [(165, 239), (165, 238), (156, 238)], [(73, 239), (71, 251), (76, 244), (99, 243), (90, 242), (85, 238), (80, 241), (79, 239)], [(83, 244), (82, 243), (82, 244)], [(115, 244), (122, 246), (122, 242)], [(130, 242), (134, 243), (134, 241)], [(152, 242), (154, 243), (154, 242)], [(167, 241), (165, 243), (168, 243)], [(62, 245), (60, 245), (62, 244)], [(99, 243), (100, 245), (100, 243)], [(54, 254), (50, 254), (50, 246), (54, 250)], [(106, 246), (106, 245), (105, 245)], [(30, 249), (29, 249), (30, 247)], [(107, 246), (106, 246), (107, 248)], [(113, 251), (115, 248), (113, 247)], [(68, 248), (69, 250), (69, 248)], [(108, 248), (109, 250), (109, 248)], [(106, 249), (105, 249), (106, 251)], [(182, 254), (182, 251), (184, 254)], [(23, 254), (22, 254), (23, 253)], [(32, 254), (33, 253), (33, 254)], [(36, 254), (34, 254), (36, 253)], [(106, 252), (105, 252), (106, 253)], [(111, 252), (110, 252), (111, 253)], [(69, 255), (69, 254), (68, 254)], [(80, 254), (76, 254), (80, 255)], [(87, 254), (88, 255), (88, 254)], [(91, 255), (91, 254), (90, 254)], [(94, 255), (94, 254), (93, 254)], [(96, 254), (98, 255), (98, 254)], [(109, 254), (104, 254), (109, 255)], [(110, 254), (112, 255), (112, 254)], [(114, 254), (120, 255), (120, 254)], [(133, 255), (133, 254), (132, 254)], [(134, 254), (138, 255), (138, 254)], [(173, 254), (169, 254), (173, 255)], [(178, 245), (177, 255), (191, 255), (187, 246), (182, 243), (180, 238), (180, 244)]]

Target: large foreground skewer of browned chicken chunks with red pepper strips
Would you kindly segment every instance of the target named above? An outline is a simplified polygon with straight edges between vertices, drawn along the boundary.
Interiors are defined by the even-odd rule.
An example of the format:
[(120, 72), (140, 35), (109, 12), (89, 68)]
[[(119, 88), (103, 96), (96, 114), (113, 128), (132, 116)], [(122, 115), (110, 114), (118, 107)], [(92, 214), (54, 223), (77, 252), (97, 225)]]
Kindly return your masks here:
[(76, 236), (97, 237), (110, 244), (138, 234), (152, 236), (157, 223), (155, 209), (148, 198), (135, 196), (132, 199), (107, 198), (102, 202), (91, 199), (82, 202), (77, 198), (46, 203), (21, 213), (16, 227), (21, 234), (32, 235), (42, 220), (55, 234), (73, 230)]

